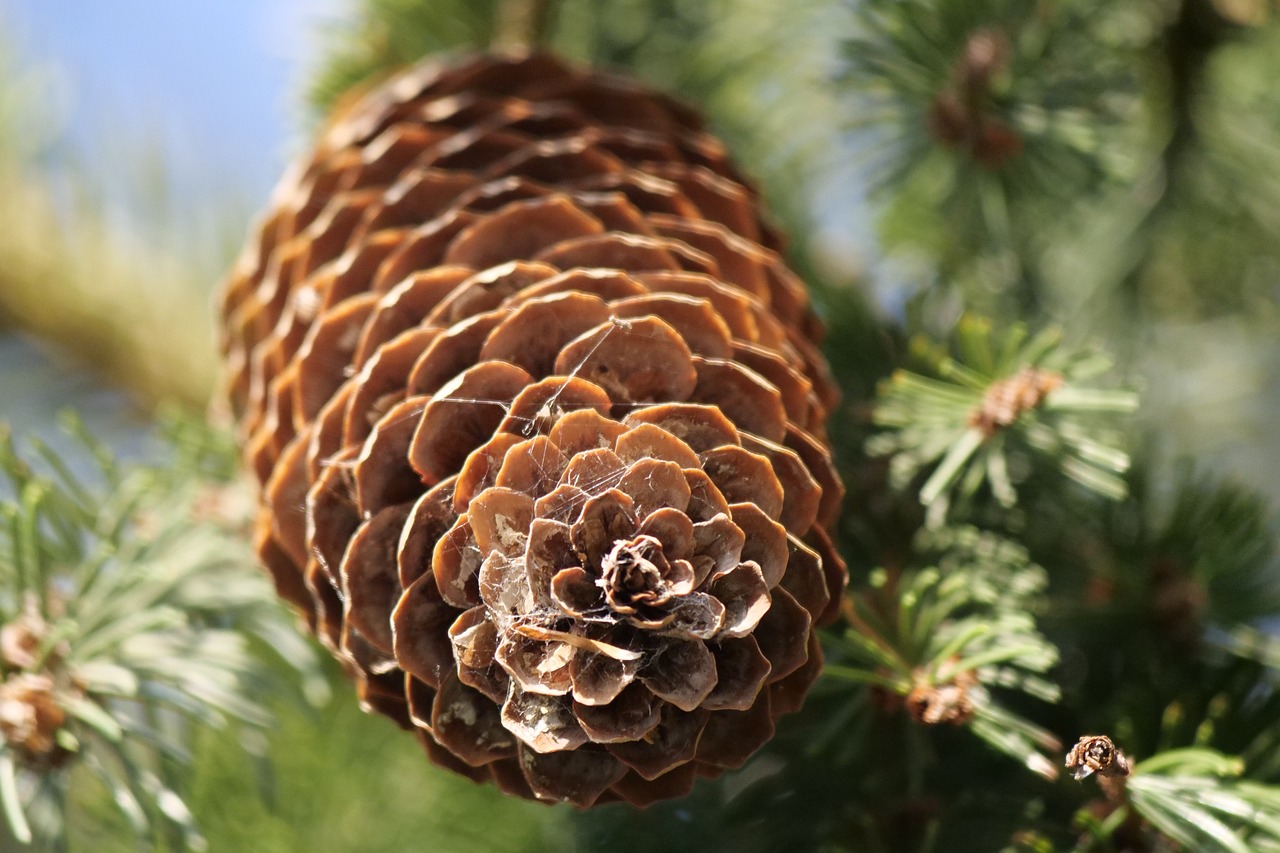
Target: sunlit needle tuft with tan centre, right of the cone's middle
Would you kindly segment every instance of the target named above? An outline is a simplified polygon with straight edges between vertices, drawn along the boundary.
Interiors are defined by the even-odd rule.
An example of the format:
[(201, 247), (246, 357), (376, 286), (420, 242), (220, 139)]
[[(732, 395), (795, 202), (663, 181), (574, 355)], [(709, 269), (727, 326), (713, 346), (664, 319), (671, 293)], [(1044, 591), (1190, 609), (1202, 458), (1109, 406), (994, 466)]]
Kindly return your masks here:
[(1114, 429), (1088, 419), (1133, 411), (1137, 397), (1085, 384), (1110, 368), (1105, 356), (1064, 348), (1055, 329), (1028, 337), (1015, 325), (997, 341), (991, 324), (973, 316), (957, 324), (951, 350), (915, 341), (927, 373), (899, 370), (882, 384), (874, 421), (888, 432), (867, 444), (873, 456), (892, 455), (897, 488), (928, 471), (919, 498), (932, 524), (983, 489), (1014, 506), (1015, 471), (1028, 464), (1103, 497), (1124, 496), (1129, 457)]

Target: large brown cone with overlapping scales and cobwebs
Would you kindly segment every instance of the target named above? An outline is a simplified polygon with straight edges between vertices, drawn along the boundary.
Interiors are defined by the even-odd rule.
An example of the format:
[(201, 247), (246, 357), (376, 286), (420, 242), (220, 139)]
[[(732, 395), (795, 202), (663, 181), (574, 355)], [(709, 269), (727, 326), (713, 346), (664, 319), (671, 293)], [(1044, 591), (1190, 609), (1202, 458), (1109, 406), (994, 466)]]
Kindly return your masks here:
[(348, 104), (224, 296), (284, 598), (433, 761), (577, 806), (740, 766), (845, 569), (820, 324), (699, 118), (544, 56)]

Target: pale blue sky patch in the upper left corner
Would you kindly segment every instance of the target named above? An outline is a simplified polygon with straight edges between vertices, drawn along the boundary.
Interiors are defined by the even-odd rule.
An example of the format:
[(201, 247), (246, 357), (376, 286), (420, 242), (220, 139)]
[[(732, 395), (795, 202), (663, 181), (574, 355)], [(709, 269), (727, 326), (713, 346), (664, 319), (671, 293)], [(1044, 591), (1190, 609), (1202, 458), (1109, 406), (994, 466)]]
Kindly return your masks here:
[(343, 5), (0, 0), (0, 32), (23, 60), (56, 68), (69, 137), (91, 156), (120, 128), (159, 132), (170, 168), (265, 200), (294, 147), (316, 31)]

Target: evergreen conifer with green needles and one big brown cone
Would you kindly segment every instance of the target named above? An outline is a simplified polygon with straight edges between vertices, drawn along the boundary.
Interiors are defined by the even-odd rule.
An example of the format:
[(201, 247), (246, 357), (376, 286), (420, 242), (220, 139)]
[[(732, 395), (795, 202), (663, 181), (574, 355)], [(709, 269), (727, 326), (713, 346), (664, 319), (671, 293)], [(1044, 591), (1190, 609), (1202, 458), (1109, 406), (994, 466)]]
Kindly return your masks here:
[[(559, 60), (512, 73), (460, 59), (490, 47), (636, 82), (570, 79)], [(442, 54), (462, 70), (411, 79), (426, 101), (430, 86), (456, 96), (452, 113), (442, 101), (412, 118), (421, 102), (403, 85), (376, 95)], [(242, 451), (178, 421), (166, 466), (122, 467), (88, 442), (100, 474), (87, 483), (40, 442), (36, 460), (0, 453), (13, 484), (0, 528), (10, 833), (64, 849), (114, 826), (156, 849), (1280, 850), (1274, 453), (1256, 439), (1235, 448), (1252, 476), (1225, 473), (1230, 439), (1206, 415), (1274, 364), (1277, 59), (1280, 9), (1266, 0), (360, 0), (308, 90), (317, 120), (342, 118), (224, 291)], [(698, 136), (699, 111), (731, 159)], [(388, 115), (419, 129), (384, 145)], [(521, 154), (539, 134), (561, 141), (543, 161)], [(324, 264), (351, 233), (402, 228), (407, 245), (430, 193), (387, 186), (439, 145), (430, 199), (452, 181), (448, 199), (467, 202), (448, 202), (435, 250), (447, 261), (420, 252), (422, 266), (392, 270), (425, 282), (404, 291), (426, 300), (410, 318), (360, 295), (376, 284), (352, 286), (358, 264)], [(694, 160), (721, 197), (746, 201), (699, 196), (712, 178), (689, 178)], [(484, 173), (493, 183), (467, 177), (490, 163), (503, 164)], [(854, 233), (849, 199), (863, 196), (873, 238)], [(714, 228), (690, 229), (695, 210)], [(650, 254), (609, 260), (623, 243), (628, 259), (641, 243)], [(850, 246), (874, 246), (855, 277), (831, 261)], [(658, 250), (666, 273), (648, 265)], [(557, 264), (575, 257), (630, 272), (566, 283)], [(488, 260), (511, 269), (467, 268)], [(315, 291), (306, 316), (279, 284), (289, 265), (300, 292)], [(787, 286), (788, 268), (806, 289)], [(316, 269), (333, 273), (323, 287), (307, 284)], [(741, 284), (753, 275), (755, 295)], [(556, 313), (564, 339), (529, 332), (535, 309)], [(461, 330), (481, 316), (485, 343), (468, 343)], [(604, 351), (640, 324), (635, 347)], [(426, 365), (439, 375), (396, 368), (393, 341), (443, 341)], [(511, 369), (472, 373), (498, 362), (481, 352)], [(699, 419), (654, 405), (676, 393), (667, 386), (654, 398), (628, 378), (659, 359), (687, 370), (680, 400)], [(741, 380), (756, 371), (763, 384)], [(454, 374), (463, 384), (444, 386)], [(448, 411), (430, 409), (440, 386)], [(547, 414), (547, 394), (579, 411)], [(426, 438), (403, 428), (415, 405)], [(460, 419), (485, 421), (462, 450), (445, 441)], [(608, 448), (588, 451), (588, 433)], [(699, 510), (672, 497), (692, 479), (654, 497), (666, 474), (717, 453), (767, 465), (708, 475)], [(237, 455), (253, 485), (228, 479)], [(580, 502), (589, 480), (620, 485), (598, 519), (562, 519), (558, 505), (535, 508), (550, 506), (549, 476)], [(252, 570), (253, 510), (232, 496), (259, 487), (257, 556), (346, 670), (324, 683)], [(731, 512), (707, 510), (716, 489)], [(662, 508), (628, 508), (645, 501)], [(668, 561), (678, 537), (658, 514), (671, 530), (723, 517), (716, 542), (740, 537), (751, 560), (733, 557), (721, 587), (694, 583), (676, 564), (716, 571), (723, 546)], [(500, 580), (511, 519), (543, 532), (557, 606), (605, 613), (593, 622), (604, 628), (492, 616), (520, 592)], [(631, 549), (596, 542), (596, 521)], [(404, 555), (428, 539), (436, 579), (452, 573), (458, 589), (412, 598), (421, 576)], [(484, 569), (442, 552), (472, 540)], [(637, 593), (609, 580), (623, 564), (660, 578)], [(699, 593), (736, 620), (732, 642), (668, 612)], [(667, 649), (673, 620), (680, 660), (637, 669), (660, 657), (644, 631)], [(728, 686), (708, 680), (731, 663)], [(394, 726), (348, 713), (346, 676), (431, 761), (494, 784), (472, 786)], [(264, 679), (334, 698), (319, 711), (251, 702)], [(547, 695), (572, 697), (572, 719), (564, 699), (531, 699)], [(466, 725), (445, 719), (463, 706)], [(694, 733), (684, 751), (681, 726)], [(499, 743), (507, 733), (525, 745)], [(246, 736), (255, 756), (229, 758)], [(539, 738), (558, 740), (526, 748)], [(535, 809), (530, 797), (590, 808)], [(229, 820), (228, 802), (248, 817)]]

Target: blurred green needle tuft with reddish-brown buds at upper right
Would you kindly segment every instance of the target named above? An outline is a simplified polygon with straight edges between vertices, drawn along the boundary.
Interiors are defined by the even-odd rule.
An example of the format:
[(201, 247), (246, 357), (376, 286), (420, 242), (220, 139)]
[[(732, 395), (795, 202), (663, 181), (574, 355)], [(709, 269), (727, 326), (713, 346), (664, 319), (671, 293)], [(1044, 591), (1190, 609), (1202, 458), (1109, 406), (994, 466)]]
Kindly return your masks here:
[(982, 310), (1043, 305), (1043, 227), (1132, 169), (1126, 29), (1097, 3), (858, 4), (841, 86), (888, 248)]

